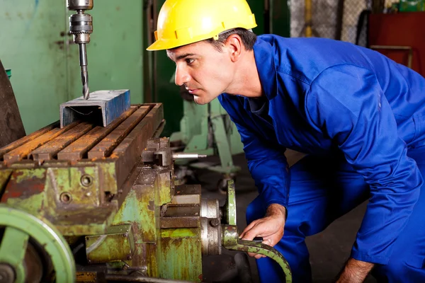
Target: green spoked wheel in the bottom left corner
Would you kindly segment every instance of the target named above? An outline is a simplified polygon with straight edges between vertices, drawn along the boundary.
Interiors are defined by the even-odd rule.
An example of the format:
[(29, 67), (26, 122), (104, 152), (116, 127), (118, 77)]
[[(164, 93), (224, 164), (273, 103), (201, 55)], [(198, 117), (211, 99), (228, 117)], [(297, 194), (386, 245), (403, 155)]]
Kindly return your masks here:
[(75, 282), (72, 252), (49, 221), (0, 204), (0, 227), (1, 282)]

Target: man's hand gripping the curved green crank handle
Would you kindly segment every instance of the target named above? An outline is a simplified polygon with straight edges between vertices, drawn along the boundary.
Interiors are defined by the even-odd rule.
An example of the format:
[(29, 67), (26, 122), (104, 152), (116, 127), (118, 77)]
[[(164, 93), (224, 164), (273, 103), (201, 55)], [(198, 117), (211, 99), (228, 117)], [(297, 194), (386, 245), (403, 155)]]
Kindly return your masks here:
[[(286, 209), (280, 204), (271, 204), (267, 207), (264, 218), (252, 221), (246, 226), (239, 238), (252, 241), (255, 237), (263, 237), (263, 243), (268, 246), (275, 246), (283, 236), (283, 227), (285, 226)], [(264, 258), (263, 255), (248, 253), (256, 259)]]

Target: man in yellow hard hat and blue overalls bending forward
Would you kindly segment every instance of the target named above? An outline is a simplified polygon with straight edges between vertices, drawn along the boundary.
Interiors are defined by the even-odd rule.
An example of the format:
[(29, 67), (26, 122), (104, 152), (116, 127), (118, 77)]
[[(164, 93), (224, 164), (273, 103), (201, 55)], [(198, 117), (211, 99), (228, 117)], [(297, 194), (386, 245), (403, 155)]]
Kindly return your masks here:
[[(264, 238), (310, 282), (305, 236), (369, 199), (338, 282), (425, 282), (425, 79), (378, 52), (319, 38), (256, 37), (245, 0), (167, 0), (157, 41), (176, 84), (218, 98), (259, 196), (242, 237)], [(308, 154), (288, 169), (286, 148)], [(283, 236), (284, 235), (284, 236)], [(283, 280), (258, 259), (262, 282)]]

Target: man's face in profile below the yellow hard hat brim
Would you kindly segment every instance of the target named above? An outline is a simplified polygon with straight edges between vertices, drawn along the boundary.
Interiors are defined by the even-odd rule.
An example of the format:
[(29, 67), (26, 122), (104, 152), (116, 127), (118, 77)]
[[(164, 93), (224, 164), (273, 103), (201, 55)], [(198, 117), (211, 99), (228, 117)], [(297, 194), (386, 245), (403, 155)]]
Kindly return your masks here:
[(232, 83), (234, 66), (227, 47), (219, 52), (201, 41), (166, 53), (176, 62), (176, 85), (184, 85), (198, 104), (209, 103)]

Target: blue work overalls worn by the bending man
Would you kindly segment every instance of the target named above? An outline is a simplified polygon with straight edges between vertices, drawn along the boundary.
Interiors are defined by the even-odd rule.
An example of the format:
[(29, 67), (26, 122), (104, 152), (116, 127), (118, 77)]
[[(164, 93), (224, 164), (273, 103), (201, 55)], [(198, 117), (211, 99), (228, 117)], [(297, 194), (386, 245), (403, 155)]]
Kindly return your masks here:
[[(254, 45), (265, 100), (219, 96), (237, 125), (259, 196), (287, 208), (282, 240), (293, 282), (311, 282), (305, 236), (369, 199), (351, 258), (375, 263), (384, 282), (425, 282), (425, 79), (347, 42), (261, 35)], [(252, 98), (251, 98), (252, 100)], [(288, 168), (285, 149), (308, 154)], [(257, 260), (261, 282), (280, 268)]]

